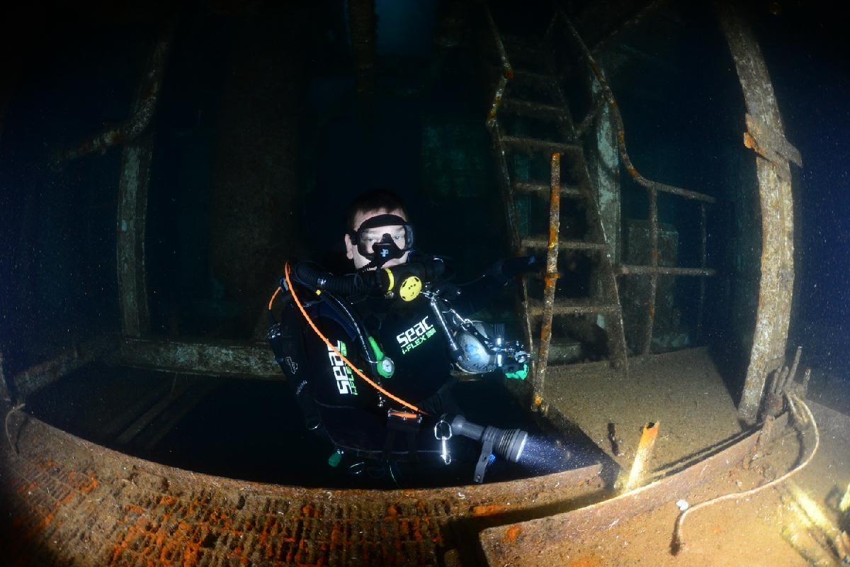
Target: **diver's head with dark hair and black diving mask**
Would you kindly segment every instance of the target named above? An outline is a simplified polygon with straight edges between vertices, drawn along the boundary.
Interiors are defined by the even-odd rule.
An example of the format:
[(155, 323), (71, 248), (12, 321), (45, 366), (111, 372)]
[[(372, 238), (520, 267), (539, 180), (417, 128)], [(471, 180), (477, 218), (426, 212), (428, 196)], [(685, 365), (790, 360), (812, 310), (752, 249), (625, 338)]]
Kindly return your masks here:
[(407, 262), (413, 228), (404, 203), (388, 190), (372, 190), (348, 208), (345, 252), (357, 269)]

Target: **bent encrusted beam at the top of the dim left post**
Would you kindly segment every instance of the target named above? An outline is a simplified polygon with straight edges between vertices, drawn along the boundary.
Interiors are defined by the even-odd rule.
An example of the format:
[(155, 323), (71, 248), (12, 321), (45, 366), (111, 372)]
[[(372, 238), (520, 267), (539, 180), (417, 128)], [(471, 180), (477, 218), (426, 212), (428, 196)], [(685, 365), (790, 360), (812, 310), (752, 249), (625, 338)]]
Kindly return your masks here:
[(104, 154), (106, 150), (116, 145), (122, 145), (139, 138), (142, 133), (148, 130), (156, 113), (156, 105), (159, 102), (162, 77), (165, 75), (166, 61), (168, 53), (171, 50), (176, 24), (177, 16), (174, 16), (163, 27), (160, 36), (154, 44), (147, 70), (144, 72), (142, 81), (139, 84), (139, 90), (133, 104), (133, 114), (126, 122), (94, 134), (94, 136), (83, 141), (76, 148), (59, 152), (59, 156), (57, 157), (59, 165), (92, 153)]

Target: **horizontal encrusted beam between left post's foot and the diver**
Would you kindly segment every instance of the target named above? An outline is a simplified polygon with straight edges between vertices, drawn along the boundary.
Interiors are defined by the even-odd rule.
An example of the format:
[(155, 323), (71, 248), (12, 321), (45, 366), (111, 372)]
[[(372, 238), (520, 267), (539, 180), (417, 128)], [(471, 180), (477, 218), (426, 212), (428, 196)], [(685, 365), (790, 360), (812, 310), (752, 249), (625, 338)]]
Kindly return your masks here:
[(124, 337), (119, 364), (181, 374), (285, 379), (265, 343)]

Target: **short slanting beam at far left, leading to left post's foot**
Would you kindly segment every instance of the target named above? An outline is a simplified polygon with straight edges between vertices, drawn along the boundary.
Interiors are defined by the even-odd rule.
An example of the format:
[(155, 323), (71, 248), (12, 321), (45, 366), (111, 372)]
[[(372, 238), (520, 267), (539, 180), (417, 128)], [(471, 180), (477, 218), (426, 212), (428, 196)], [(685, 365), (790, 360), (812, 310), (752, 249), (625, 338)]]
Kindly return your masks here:
[(114, 347), (115, 343), (109, 337), (98, 337), (75, 345), (65, 349), (51, 360), (15, 374), (10, 378), (9, 389), (14, 391), (17, 400), (26, 400), (28, 395), (103, 357)]

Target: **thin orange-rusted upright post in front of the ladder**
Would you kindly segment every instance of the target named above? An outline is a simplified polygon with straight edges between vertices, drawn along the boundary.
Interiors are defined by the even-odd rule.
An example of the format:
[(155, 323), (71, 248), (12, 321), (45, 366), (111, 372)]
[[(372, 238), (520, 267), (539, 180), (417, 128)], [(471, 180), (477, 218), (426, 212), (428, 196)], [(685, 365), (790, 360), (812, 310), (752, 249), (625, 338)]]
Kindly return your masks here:
[(558, 281), (558, 235), (561, 230), (561, 155), (554, 153), (550, 161), (552, 175), (549, 194), (549, 243), (546, 256), (546, 277), (543, 286), (543, 321), (540, 329), (540, 348), (537, 349), (537, 369), (534, 378), (534, 405), (543, 403), (549, 343), (552, 342), (552, 319), (555, 304), (555, 284)]

